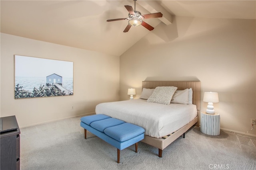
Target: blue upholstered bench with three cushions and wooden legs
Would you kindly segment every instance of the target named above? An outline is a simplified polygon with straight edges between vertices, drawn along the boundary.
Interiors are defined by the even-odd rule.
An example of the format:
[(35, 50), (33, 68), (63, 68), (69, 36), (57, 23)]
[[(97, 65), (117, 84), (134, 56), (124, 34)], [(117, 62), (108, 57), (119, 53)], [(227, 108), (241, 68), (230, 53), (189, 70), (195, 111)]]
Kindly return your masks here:
[(90, 131), (100, 139), (117, 148), (117, 162), (120, 162), (120, 150), (135, 144), (138, 152), (138, 142), (144, 139), (144, 129), (140, 126), (126, 123), (122, 120), (109, 117), (107, 115), (90, 115), (81, 118), (81, 127), (84, 128), (84, 138), (86, 131)]

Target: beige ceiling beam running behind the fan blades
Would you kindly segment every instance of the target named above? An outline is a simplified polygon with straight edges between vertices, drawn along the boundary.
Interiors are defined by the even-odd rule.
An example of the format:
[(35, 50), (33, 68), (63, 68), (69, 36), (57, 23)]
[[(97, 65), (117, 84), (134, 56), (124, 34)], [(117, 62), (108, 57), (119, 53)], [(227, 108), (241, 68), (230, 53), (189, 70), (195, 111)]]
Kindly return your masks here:
[(164, 9), (164, 7), (162, 7), (160, 4), (158, 4), (155, 1), (136, 1), (138, 4), (140, 4), (140, 6), (142, 6), (143, 8), (145, 8), (146, 10), (148, 10), (150, 13), (156, 13), (156, 12), (161, 12), (163, 14), (162, 18), (158, 18), (159, 20), (161, 20), (163, 23), (165, 23), (166, 25), (169, 25), (172, 23), (172, 15), (166, 10)]

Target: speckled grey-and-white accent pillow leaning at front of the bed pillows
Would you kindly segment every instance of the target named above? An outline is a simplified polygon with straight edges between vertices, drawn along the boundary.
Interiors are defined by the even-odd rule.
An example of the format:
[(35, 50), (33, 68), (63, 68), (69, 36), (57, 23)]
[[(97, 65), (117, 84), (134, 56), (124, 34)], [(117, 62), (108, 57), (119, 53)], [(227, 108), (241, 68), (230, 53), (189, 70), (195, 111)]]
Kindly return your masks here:
[(148, 98), (147, 102), (169, 105), (176, 90), (177, 87), (174, 86), (156, 87), (153, 94)]

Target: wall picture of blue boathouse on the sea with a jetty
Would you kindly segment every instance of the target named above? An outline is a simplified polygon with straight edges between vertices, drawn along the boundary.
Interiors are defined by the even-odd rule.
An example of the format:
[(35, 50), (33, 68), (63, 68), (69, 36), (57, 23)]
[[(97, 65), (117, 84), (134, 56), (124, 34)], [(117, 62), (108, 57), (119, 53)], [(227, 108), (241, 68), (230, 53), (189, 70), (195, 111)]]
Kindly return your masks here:
[(73, 95), (73, 62), (14, 55), (14, 98)]

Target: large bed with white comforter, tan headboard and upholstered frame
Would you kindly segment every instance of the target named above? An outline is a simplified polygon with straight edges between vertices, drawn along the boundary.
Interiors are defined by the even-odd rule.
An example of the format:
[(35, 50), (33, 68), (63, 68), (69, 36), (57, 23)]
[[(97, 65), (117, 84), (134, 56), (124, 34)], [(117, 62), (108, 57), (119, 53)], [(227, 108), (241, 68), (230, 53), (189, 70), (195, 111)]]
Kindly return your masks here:
[[(164, 105), (147, 102), (144, 99), (135, 99), (102, 103), (98, 104), (95, 109), (96, 114), (105, 114), (143, 127), (145, 129), (145, 135), (142, 142), (158, 148), (159, 157), (162, 157), (162, 150), (174, 140), (182, 135), (184, 137), (185, 132), (190, 127), (193, 125), (199, 126), (198, 117), (200, 115), (201, 98), (200, 81), (142, 82), (142, 89), (155, 89), (161, 86), (174, 86), (177, 87), (177, 90), (191, 89), (191, 103), (186, 105), (176, 103)], [(189, 114), (185, 114), (188, 112)], [(176, 115), (176, 118), (171, 118), (169, 115)], [(178, 119), (182, 121), (178, 121)]]

